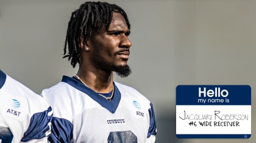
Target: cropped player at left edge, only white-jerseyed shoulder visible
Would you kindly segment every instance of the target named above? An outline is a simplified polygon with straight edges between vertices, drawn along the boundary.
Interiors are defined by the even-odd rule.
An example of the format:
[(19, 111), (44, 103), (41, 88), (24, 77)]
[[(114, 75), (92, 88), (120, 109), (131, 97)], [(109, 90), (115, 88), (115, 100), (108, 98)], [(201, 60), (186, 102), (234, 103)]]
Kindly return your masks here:
[(41, 96), (0, 70), (0, 142), (48, 142), (51, 119)]

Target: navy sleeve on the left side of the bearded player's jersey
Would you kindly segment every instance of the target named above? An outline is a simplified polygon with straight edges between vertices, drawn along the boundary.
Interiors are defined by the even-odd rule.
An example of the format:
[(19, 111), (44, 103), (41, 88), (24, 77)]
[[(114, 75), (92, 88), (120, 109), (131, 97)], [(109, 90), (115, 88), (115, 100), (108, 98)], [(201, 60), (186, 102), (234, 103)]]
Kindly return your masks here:
[(73, 124), (66, 119), (52, 118), (52, 133), (49, 142), (71, 142), (73, 139)]

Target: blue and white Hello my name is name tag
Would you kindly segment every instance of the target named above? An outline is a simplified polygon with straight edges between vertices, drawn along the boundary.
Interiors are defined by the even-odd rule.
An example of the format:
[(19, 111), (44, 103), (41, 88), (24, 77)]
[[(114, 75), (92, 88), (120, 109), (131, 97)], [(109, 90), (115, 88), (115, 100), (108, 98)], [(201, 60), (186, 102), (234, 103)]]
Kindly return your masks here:
[(177, 138), (250, 138), (249, 85), (178, 85)]

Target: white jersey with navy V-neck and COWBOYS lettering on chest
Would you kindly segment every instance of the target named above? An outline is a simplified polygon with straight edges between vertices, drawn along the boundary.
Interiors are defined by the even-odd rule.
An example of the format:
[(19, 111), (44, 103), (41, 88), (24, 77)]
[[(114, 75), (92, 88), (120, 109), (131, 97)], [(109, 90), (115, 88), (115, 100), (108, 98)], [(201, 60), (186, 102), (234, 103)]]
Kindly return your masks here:
[(42, 91), (54, 110), (51, 142), (154, 142), (157, 128), (151, 102), (134, 88), (114, 82), (112, 101), (75, 78)]

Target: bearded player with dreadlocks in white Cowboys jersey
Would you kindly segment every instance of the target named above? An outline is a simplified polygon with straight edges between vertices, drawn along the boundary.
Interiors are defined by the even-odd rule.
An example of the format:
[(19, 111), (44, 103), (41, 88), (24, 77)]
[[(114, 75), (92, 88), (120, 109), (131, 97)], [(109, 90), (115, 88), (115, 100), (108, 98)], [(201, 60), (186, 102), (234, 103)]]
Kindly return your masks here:
[(113, 81), (113, 71), (131, 73), (129, 34), (118, 5), (85, 2), (72, 13), (63, 58), (79, 70), (41, 93), (54, 110), (50, 142), (155, 142), (152, 103)]

